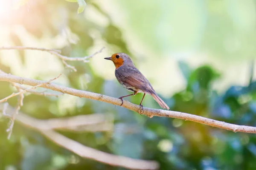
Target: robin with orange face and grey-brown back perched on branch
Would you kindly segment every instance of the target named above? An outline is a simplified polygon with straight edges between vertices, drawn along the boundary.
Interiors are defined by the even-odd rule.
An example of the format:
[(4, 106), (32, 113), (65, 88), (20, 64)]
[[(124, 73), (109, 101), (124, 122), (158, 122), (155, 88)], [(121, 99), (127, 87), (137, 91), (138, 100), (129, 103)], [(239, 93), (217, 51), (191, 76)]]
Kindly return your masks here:
[(111, 60), (116, 66), (115, 75), (118, 82), (128, 91), (133, 92), (133, 94), (119, 97), (119, 99), (122, 100), (122, 104), (124, 97), (136, 95), (137, 93), (144, 93), (143, 98), (140, 102), (140, 106), (142, 107), (142, 109), (142, 101), (145, 97), (145, 94), (153, 96), (153, 98), (162, 108), (169, 109), (166, 103), (154, 91), (154, 88), (152, 87), (148, 79), (146, 79), (145, 76), (143, 76), (143, 74), (134, 66), (134, 63), (127, 54), (116, 53), (113, 54), (111, 57), (106, 57), (105, 59)]

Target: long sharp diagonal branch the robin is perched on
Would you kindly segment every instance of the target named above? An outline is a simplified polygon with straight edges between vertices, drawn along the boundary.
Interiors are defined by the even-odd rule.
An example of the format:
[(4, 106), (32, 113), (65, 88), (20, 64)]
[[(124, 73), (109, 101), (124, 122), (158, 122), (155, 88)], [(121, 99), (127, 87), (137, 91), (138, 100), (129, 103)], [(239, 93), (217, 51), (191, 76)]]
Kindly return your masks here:
[[(17, 77), (11, 74), (0, 74), (0, 81), (6, 81), (6, 82), (23, 82), (25, 85), (32, 85), (36, 86), (39, 84), (44, 83), (44, 81), (39, 81), (35, 79), (28, 79), (28, 78), (23, 78), (23, 77)], [(105, 96), (103, 94), (96, 94), (92, 93), (89, 91), (81, 91), (81, 90), (76, 90), (73, 88), (67, 88), (61, 85), (55, 85), (53, 83), (47, 83), (46, 85), (42, 85), (41, 87), (51, 89), (53, 91), (59, 91), (64, 94), (70, 94), (73, 96), (78, 96), (78, 97), (84, 97), (88, 99), (93, 99), (93, 100), (98, 100), (101, 102), (107, 102), (111, 103), (113, 105), (121, 105), (121, 100), (117, 98), (113, 98), (110, 96)], [(141, 107), (139, 105), (134, 105), (126, 100), (124, 100), (122, 107), (127, 108), (131, 111), (135, 111), (137, 113), (142, 113), (148, 117), (153, 117), (153, 116), (162, 116), (162, 117), (172, 117), (172, 118), (177, 118), (177, 119), (184, 119), (184, 120), (189, 120), (192, 122), (198, 122), (202, 123), (205, 125), (209, 125), (212, 127), (218, 127), (221, 129), (226, 129), (226, 130), (231, 130), (233, 132), (245, 132), (245, 133), (256, 133), (256, 127), (251, 127), (251, 126), (243, 126), (243, 125), (234, 125), (226, 122), (221, 122), (213, 119), (208, 119), (204, 118), (202, 116), (197, 116), (193, 114), (188, 114), (188, 113), (182, 113), (182, 112), (176, 112), (176, 111), (166, 111), (166, 110), (161, 110), (161, 109), (151, 109), (151, 108), (145, 108), (143, 111), (141, 111)]]

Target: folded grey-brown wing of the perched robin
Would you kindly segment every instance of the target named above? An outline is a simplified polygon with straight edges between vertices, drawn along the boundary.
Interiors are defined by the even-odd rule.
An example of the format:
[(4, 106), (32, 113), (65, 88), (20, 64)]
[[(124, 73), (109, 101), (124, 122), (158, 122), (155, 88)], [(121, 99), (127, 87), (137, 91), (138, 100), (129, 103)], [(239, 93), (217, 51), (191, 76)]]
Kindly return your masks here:
[[(119, 70), (120, 69), (120, 70)], [(133, 86), (134, 88), (151, 93), (153, 88), (150, 82), (143, 76), (143, 74), (133, 67), (119, 68), (116, 70), (116, 78), (120, 79), (122, 82)], [(154, 91), (154, 90), (153, 90)]]

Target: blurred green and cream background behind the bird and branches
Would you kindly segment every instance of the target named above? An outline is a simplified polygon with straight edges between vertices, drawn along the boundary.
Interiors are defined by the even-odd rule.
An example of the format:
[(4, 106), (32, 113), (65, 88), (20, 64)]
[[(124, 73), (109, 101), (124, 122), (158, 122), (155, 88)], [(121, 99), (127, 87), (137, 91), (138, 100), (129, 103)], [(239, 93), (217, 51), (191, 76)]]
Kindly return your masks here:
[[(72, 1), (72, 0), (68, 0)], [(173, 111), (256, 126), (256, 1), (254, 0), (0, 0), (0, 46), (61, 49), (70, 57), (105, 47), (89, 63), (68, 62), (42, 51), (0, 51), (0, 69), (119, 97), (116, 52), (131, 56)], [(15, 88), (0, 82), (0, 98)], [(38, 89), (42, 91), (42, 89)], [(139, 104), (142, 94), (127, 98)], [(15, 106), (17, 99), (8, 100)], [(151, 96), (143, 105), (160, 108)], [(23, 113), (50, 119), (112, 113), (108, 132), (61, 132), (88, 147), (135, 159), (156, 160), (161, 170), (255, 170), (256, 136), (195, 122), (148, 118), (119, 106), (69, 95), (27, 94)], [(82, 159), (40, 133), (0, 117), (0, 170), (121, 170)]]

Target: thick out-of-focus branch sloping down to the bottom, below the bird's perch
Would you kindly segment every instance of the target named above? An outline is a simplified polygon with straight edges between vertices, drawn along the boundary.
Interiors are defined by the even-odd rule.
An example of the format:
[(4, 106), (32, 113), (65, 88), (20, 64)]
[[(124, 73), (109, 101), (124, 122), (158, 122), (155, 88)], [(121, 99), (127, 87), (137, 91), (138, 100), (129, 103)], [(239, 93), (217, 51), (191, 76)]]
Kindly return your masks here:
[[(3, 108), (3, 113), (6, 114), (6, 103), (4, 105), (0, 105), (0, 108)], [(8, 109), (9, 112), (14, 111), (14, 109), (10, 107)], [(140, 159), (132, 159), (125, 156), (116, 156), (110, 153), (105, 153), (100, 150), (84, 146), (79, 142), (76, 142), (72, 139), (67, 138), (66, 136), (61, 135), (60, 133), (55, 132), (54, 130), (45, 130), (46, 125), (44, 125), (44, 121), (32, 118), (24, 113), (19, 113), (16, 117), (16, 120), (27, 127), (37, 130), (48, 139), (50, 139), (52, 142), (66, 148), (67, 150), (70, 150), (73, 153), (76, 153), (82, 158), (93, 159), (105, 164), (125, 167), (128, 169), (157, 170), (159, 168), (159, 164), (156, 161), (146, 161)]]

